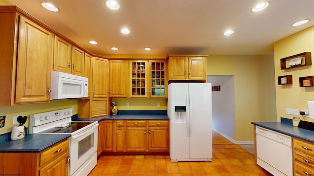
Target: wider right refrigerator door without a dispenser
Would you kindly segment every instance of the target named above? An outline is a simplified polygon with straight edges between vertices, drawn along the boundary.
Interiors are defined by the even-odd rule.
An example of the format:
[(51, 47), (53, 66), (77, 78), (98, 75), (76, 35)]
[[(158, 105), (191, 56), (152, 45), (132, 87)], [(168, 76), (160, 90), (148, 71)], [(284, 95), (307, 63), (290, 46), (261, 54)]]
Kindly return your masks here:
[(211, 84), (189, 84), (189, 158), (212, 158)]

